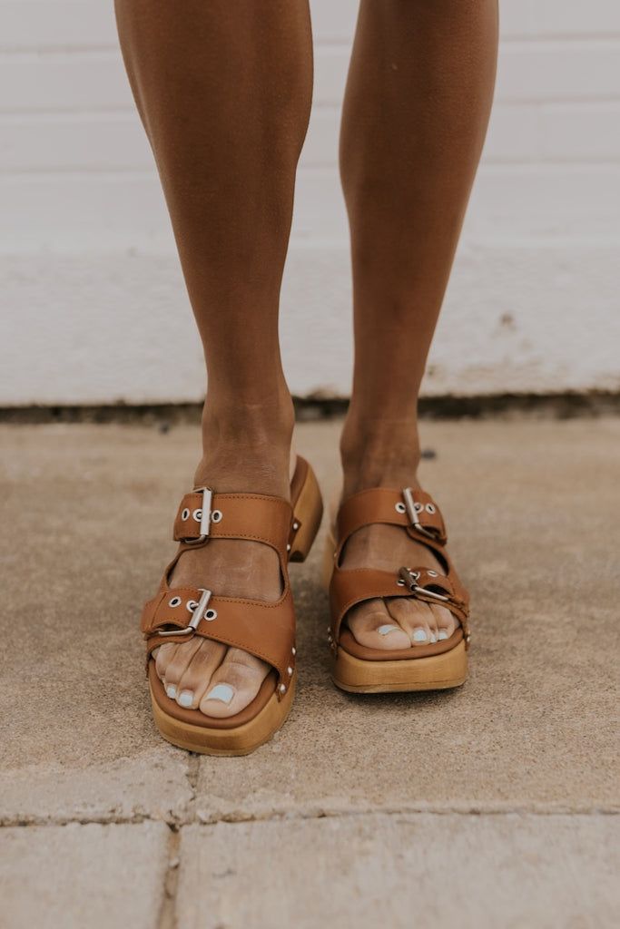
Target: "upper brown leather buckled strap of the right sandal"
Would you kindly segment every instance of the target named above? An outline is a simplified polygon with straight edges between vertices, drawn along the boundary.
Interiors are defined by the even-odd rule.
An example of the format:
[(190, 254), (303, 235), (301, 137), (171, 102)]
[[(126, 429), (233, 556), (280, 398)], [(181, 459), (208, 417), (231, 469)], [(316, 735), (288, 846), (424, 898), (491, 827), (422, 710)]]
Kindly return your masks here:
[(418, 542), (431, 538), (445, 544), (447, 540), (439, 506), (429, 493), (416, 488), (395, 491), (377, 487), (353, 494), (338, 511), (338, 543), (343, 545), (353, 532), (374, 523), (402, 526)]

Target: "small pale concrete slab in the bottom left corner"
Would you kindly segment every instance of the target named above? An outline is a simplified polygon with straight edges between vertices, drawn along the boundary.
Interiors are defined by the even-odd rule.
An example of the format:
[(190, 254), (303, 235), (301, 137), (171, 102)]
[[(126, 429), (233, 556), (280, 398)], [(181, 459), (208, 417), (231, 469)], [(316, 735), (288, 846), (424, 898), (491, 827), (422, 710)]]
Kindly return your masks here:
[(3, 929), (157, 924), (165, 899), (164, 823), (0, 831)]

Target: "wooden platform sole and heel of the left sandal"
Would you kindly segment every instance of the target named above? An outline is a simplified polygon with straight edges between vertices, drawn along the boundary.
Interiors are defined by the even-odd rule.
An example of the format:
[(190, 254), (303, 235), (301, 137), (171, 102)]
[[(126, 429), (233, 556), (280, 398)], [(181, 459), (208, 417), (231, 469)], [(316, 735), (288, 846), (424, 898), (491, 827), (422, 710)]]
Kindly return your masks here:
[[(293, 506), (294, 523), (298, 529), (291, 543), (288, 553), (289, 561), (304, 561), (310, 553), (312, 543), (321, 526), (323, 517), (323, 499), (319, 484), (310, 464), (304, 459), (298, 459), (298, 465), (291, 483), (291, 504)], [(154, 661), (150, 662), (154, 665)], [(247, 710), (243, 711), (244, 722), (234, 726), (234, 717), (229, 717), (229, 727), (209, 726), (209, 717), (199, 710), (191, 711), (195, 715), (195, 724), (179, 719), (172, 713), (166, 713), (153, 693), (150, 681), (152, 714), (160, 735), (188, 752), (198, 752), (210, 755), (244, 755), (254, 752), (260, 745), (270, 738), (284, 725), (288, 713), (293, 705), (293, 697), (297, 683), (297, 672), (291, 679), (291, 684), (285, 696), (278, 700), (276, 693), (272, 693), (269, 700), (255, 716), (247, 719)], [(170, 700), (174, 706), (177, 704)], [(220, 722), (220, 721), (218, 721)]]

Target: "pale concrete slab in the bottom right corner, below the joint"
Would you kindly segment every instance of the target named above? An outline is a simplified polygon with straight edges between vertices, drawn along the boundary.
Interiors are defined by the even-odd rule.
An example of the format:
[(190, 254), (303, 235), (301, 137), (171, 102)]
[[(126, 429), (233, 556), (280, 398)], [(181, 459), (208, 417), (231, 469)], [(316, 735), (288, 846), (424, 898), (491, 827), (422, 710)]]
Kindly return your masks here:
[(611, 926), (619, 867), (612, 817), (371, 814), (190, 826), (178, 926)]

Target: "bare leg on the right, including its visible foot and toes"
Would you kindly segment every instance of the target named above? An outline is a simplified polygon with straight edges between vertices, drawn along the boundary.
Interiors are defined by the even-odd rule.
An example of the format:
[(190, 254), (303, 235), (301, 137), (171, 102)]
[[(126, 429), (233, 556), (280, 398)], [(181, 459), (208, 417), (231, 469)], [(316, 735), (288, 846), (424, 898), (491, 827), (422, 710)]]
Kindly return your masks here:
[[(345, 496), (416, 482), (417, 394), (486, 132), (496, 46), (496, 0), (362, 0), (341, 131), (355, 322)], [(386, 526), (356, 533), (344, 564), (389, 569), (395, 558), (437, 567)], [(365, 603), (349, 619), (374, 648), (424, 644), (454, 622), (402, 599)]]

